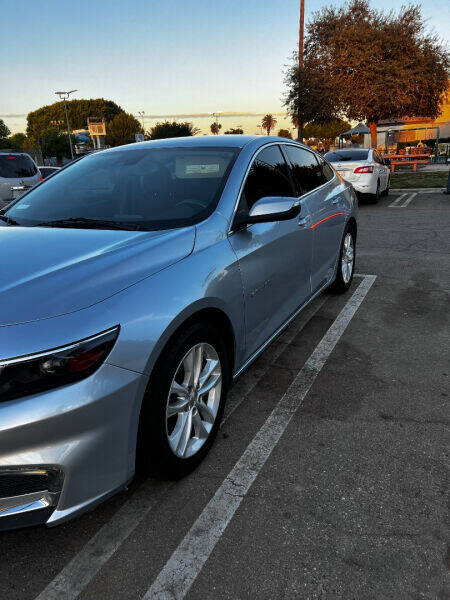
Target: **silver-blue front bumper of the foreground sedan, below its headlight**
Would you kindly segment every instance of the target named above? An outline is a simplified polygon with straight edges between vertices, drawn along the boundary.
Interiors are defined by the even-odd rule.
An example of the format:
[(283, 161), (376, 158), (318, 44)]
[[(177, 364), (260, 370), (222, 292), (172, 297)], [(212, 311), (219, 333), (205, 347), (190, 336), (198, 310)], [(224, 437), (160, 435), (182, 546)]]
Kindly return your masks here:
[(0, 402), (0, 530), (56, 525), (126, 485), (146, 383), (104, 363), (83, 381)]

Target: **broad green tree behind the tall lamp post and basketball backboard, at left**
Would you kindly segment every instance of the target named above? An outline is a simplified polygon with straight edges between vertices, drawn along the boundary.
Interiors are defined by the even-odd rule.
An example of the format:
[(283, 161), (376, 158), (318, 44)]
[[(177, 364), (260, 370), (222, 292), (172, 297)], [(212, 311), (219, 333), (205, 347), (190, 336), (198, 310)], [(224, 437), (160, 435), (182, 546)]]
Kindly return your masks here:
[[(124, 112), (123, 108), (115, 102), (104, 98), (69, 100), (67, 110), (71, 129), (86, 129), (88, 117), (104, 118), (108, 125), (116, 115)], [(51, 121), (62, 121), (61, 129), (66, 129), (64, 102), (55, 102), (28, 113), (27, 136), (30, 138), (42, 136), (43, 131), (52, 127)]]

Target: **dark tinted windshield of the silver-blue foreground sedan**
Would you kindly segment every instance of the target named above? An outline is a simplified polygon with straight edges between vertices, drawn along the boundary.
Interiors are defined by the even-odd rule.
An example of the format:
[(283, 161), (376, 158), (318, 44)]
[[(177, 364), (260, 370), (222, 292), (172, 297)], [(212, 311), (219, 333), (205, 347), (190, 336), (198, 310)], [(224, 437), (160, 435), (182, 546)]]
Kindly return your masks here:
[(215, 209), (238, 148), (137, 148), (73, 163), (4, 214), (24, 226), (171, 229)]

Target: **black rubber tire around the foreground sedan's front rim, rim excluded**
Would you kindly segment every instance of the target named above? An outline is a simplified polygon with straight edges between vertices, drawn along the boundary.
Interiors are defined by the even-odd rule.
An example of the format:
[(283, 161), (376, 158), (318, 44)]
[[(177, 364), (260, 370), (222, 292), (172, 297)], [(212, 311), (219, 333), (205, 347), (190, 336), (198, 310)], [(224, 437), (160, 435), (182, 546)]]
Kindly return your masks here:
[[(196, 454), (178, 457), (171, 449), (166, 425), (169, 390), (180, 361), (197, 344), (211, 345), (222, 368), (220, 404), (208, 438)], [(227, 350), (220, 332), (210, 323), (198, 322), (177, 333), (159, 357), (150, 378), (139, 420), (137, 468), (158, 479), (179, 479), (192, 472), (210, 450), (222, 419), (230, 380)]]

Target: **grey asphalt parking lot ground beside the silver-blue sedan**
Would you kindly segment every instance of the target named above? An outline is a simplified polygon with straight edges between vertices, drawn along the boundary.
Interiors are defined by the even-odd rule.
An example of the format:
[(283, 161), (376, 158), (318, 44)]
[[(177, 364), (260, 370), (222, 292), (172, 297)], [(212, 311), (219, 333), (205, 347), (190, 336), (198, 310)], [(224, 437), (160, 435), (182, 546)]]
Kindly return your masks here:
[(238, 380), (190, 477), (1, 533), (0, 598), (450, 598), (450, 196), (361, 204), (356, 270)]

